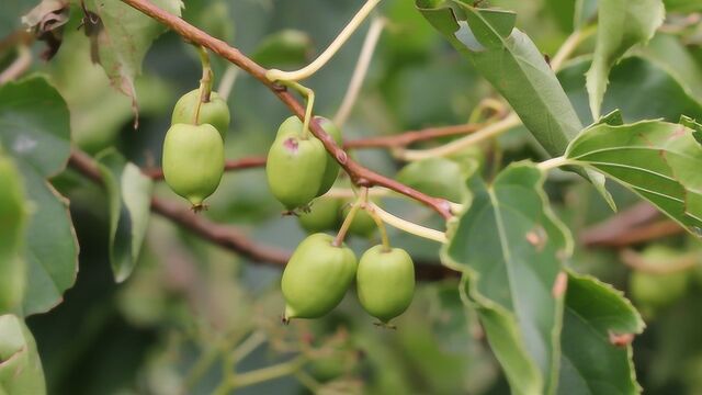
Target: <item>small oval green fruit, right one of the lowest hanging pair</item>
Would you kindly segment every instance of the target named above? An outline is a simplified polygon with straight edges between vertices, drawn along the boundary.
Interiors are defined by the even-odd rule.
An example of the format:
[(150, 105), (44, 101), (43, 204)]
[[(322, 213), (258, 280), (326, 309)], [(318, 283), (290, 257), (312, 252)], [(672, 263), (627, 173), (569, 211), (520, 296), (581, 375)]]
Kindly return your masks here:
[(387, 324), (412, 302), (415, 266), (411, 257), (400, 248), (370, 248), (359, 262), (356, 290), (363, 309)]

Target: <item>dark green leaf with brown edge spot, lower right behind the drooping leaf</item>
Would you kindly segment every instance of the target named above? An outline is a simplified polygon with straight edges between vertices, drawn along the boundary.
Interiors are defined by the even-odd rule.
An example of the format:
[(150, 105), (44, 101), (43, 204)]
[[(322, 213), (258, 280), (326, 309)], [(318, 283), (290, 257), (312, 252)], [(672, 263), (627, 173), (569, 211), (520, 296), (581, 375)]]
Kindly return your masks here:
[(641, 316), (621, 292), (595, 278), (568, 273), (558, 394), (638, 394), (632, 347), (612, 340), (643, 329)]

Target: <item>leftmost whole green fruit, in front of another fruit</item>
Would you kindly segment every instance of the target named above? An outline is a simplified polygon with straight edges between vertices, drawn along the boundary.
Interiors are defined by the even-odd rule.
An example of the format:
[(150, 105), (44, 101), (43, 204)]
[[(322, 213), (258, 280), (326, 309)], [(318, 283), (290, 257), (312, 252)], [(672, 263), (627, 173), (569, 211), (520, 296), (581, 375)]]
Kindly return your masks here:
[(224, 142), (210, 125), (174, 124), (163, 142), (163, 177), (173, 192), (201, 207), (224, 172)]

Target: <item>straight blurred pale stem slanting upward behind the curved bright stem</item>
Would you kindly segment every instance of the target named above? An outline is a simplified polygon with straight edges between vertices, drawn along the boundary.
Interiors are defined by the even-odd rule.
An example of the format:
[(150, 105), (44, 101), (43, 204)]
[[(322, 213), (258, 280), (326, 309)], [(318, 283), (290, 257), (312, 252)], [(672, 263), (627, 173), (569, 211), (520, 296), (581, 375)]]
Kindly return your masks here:
[(337, 127), (343, 126), (351, 114), (351, 110), (353, 109), (353, 104), (355, 104), (361, 87), (363, 86), (363, 80), (365, 79), (365, 75), (369, 70), (369, 66), (371, 65), (373, 50), (375, 50), (375, 46), (377, 45), (378, 38), (381, 38), (381, 33), (383, 32), (385, 20), (383, 18), (375, 18), (371, 22), (371, 27), (369, 29), (369, 33), (365, 35), (365, 41), (361, 48), (361, 55), (359, 55), (359, 61), (355, 64), (355, 69), (353, 69), (349, 88), (347, 89), (347, 93), (341, 101), (341, 105), (339, 106), (337, 114), (333, 116), (333, 123)]

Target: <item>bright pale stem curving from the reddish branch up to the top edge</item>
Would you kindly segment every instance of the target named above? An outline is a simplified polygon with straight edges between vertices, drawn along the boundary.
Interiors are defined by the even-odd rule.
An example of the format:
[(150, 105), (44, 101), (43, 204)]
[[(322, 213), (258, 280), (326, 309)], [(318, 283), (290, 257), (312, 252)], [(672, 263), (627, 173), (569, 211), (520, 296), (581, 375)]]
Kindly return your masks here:
[(380, 3), (381, 0), (367, 0), (365, 4), (359, 10), (359, 12), (351, 19), (349, 24), (347, 24), (341, 33), (329, 44), (327, 49), (321, 53), (313, 63), (305, 66), (304, 68), (296, 71), (282, 71), (278, 69), (271, 69), (265, 74), (265, 77), (271, 81), (299, 81), (303, 80), (315, 72), (317, 72), (321, 67), (324, 67), (329, 59), (346, 44), (346, 42), (351, 37), (353, 32), (363, 23), (363, 21), (369, 16), (371, 11)]

